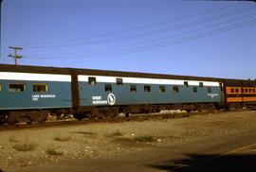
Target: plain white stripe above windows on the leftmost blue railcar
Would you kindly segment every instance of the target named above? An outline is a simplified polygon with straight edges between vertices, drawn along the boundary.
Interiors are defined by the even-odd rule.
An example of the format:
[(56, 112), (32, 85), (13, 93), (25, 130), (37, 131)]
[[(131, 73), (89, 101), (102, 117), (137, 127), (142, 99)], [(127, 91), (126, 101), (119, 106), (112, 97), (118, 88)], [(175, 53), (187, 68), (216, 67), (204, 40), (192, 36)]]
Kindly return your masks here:
[(5, 80), (66, 81), (66, 82), (71, 82), (71, 76), (68, 76), (68, 75), (16, 73), (16, 72), (0, 72), (0, 79), (5, 79)]

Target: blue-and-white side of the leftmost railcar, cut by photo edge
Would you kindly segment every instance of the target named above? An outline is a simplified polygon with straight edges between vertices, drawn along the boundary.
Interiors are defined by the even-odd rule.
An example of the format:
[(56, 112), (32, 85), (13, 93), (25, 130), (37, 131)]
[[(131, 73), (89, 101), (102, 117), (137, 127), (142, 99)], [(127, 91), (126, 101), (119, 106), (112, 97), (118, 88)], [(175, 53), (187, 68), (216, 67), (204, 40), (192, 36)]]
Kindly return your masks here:
[(0, 72), (0, 111), (72, 107), (71, 77)]

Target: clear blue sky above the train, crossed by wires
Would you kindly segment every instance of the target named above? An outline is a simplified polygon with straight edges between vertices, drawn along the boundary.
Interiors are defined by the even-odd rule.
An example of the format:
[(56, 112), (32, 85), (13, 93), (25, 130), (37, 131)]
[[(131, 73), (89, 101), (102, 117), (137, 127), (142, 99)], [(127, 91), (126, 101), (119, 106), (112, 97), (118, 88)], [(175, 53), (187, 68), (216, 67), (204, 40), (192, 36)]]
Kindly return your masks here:
[(0, 63), (256, 78), (256, 3), (3, 0)]

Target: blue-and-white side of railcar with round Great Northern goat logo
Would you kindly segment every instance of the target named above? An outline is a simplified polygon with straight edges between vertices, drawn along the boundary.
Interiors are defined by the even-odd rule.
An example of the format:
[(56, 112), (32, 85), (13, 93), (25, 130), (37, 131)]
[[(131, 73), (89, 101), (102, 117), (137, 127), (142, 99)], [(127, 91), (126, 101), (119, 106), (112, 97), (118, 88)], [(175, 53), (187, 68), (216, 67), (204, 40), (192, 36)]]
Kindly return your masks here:
[(217, 81), (79, 75), (81, 106), (219, 103)]

